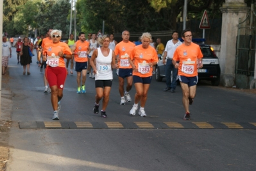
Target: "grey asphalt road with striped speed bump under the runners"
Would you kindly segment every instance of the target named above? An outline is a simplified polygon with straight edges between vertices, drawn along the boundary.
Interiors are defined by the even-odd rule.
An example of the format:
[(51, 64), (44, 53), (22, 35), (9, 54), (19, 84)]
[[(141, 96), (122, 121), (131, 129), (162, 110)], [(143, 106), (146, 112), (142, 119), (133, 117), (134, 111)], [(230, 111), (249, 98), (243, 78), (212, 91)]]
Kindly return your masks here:
[[(15, 54), (15, 49), (12, 49)], [(86, 94), (76, 94), (76, 74), (67, 76), (60, 120), (51, 117), (50, 94), (43, 94), (43, 74), (36, 59), (31, 75), (13, 56), (9, 61), (13, 93), (7, 170), (255, 170), (255, 94), (198, 85), (182, 120), (182, 90), (162, 92), (153, 79), (145, 111), (131, 117), (133, 102), (119, 105), (114, 76), (108, 118), (92, 112), (94, 79)], [(130, 92), (134, 98), (135, 89)], [(100, 108), (101, 109), (101, 108)]]

